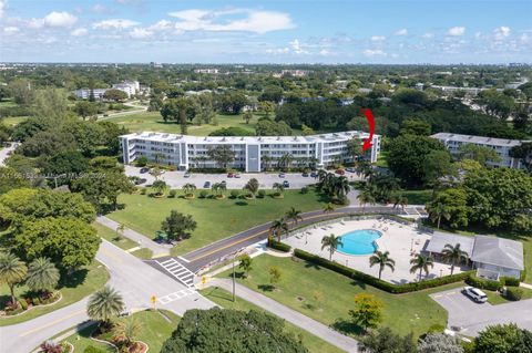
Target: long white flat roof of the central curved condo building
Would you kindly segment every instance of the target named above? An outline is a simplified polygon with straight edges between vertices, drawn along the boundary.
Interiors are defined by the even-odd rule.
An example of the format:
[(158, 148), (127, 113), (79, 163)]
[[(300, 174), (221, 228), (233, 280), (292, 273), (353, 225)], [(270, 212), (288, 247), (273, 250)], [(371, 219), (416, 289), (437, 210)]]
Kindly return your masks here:
[[(120, 137), (127, 139), (147, 139), (166, 143), (215, 143), (215, 144), (235, 144), (235, 143), (272, 143), (272, 144), (294, 144), (294, 143), (315, 143), (315, 142), (339, 142), (351, 138), (367, 138), (368, 133), (359, 131), (349, 131), (330, 134), (318, 134), (309, 136), (191, 136), (155, 132), (142, 132), (122, 135)], [(379, 136), (379, 135), (375, 135)]]

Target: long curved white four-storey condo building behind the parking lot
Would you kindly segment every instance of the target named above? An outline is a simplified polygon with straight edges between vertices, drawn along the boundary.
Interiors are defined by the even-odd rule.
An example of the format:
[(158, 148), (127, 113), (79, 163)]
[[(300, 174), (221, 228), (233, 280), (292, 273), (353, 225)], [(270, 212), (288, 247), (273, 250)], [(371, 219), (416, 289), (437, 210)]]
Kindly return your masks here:
[[(217, 168), (219, 165), (208, 157), (208, 150), (217, 146), (229, 146), (235, 159), (228, 167), (246, 172), (260, 172), (276, 163), (286, 154), (294, 164), (314, 162), (318, 167), (336, 162), (351, 162), (347, 142), (362, 141), (369, 134), (342, 132), (311, 136), (188, 136), (165, 133), (143, 132), (120, 136), (124, 164), (133, 163), (139, 156), (150, 162), (176, 166), (180, 170), (190, 168)], [(380, 135), (374, 135), (372, 147), (368, 153), (376, 162), (380, 153)], [(304, 162), (304, 163), (303, 163)]]

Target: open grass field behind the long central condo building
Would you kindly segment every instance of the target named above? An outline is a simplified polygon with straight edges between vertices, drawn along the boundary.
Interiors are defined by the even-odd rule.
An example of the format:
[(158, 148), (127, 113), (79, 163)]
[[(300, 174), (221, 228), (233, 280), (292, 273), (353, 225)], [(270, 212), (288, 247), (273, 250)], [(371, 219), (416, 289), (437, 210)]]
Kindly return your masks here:
[[(257, 122), (257, 116), (246, 124), (246, 122), (242, 118), (241, 115), (216, 115), (217, 125), (211, 124), (203, 124), (203, 125), (188, 125), (188, 135), (195, 136), (207, 136), (209, 133), (222, 128), (222, 127), (229, 127), (229, 126), (238, 126), (255, 133), (255, 124)], [(162, 133), (173, 133), (173, 134), (181, 134), (180, 124), (176, 122), (165, 123), (163, 117), (158, 112), (143, 112), (139, 114), (130, 114), (123, 116), (111, 117), (106, 120), (108, 122), (113, 122), (119, 125), (125, 126), (130, 132), (142, 132), (142, 131), (153, 131), (153, 132), (162, 132)]]

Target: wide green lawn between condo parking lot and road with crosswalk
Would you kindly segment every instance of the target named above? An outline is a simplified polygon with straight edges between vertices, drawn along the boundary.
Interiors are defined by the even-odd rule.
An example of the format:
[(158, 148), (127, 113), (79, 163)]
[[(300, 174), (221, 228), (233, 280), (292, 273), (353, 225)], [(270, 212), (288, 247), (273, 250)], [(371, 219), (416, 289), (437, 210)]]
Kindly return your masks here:
[(125, 205), (124, 209), (114, 211), (109, 217), (151, 238), (156, 230), (161, 229), (161, 222), (171, 210), (192, 215), (197, 222), (197, 228), (190, 239), (173, 249), (174, 255), (188, 252), (253, 226), (270, 221), (283, 216), (291, 206), (301, 211), (308, 211), (320, 209), (325, 205), (325, 200), (313, 190), (306, 195), (298, 190), (286, 190), (283, 199), (266, 196), (263, 199), (253, 200), (160, 199), (133, 194), (121, 195), (119, 203)]

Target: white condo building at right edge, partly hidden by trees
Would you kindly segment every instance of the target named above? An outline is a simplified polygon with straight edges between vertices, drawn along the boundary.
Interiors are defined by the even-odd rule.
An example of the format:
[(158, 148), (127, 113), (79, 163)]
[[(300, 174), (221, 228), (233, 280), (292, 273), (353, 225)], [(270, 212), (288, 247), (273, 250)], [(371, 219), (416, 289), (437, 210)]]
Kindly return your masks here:
[(520, 146), (523, 143), (522, 141), (450, 133), (438, 133), (431, 137), (443, 143), (451, 155), (458, 155), (460, 153), (461, 145), (473, 144), (477, 146), (492, 148), (497, 152), (497, 154), (501, 157), (501, 162), (490, 163), (493, 167), (509, 167), (515, 169), (524, 168), (519, 158), (510, 157), (510, 149), (512, 149), (512, 147)]

